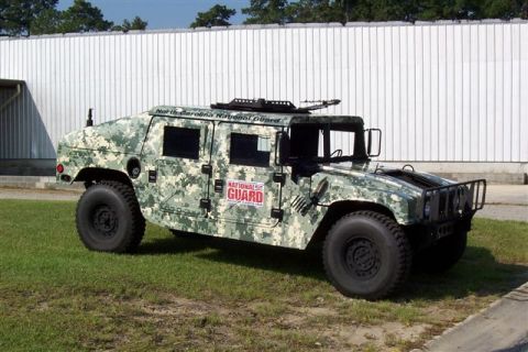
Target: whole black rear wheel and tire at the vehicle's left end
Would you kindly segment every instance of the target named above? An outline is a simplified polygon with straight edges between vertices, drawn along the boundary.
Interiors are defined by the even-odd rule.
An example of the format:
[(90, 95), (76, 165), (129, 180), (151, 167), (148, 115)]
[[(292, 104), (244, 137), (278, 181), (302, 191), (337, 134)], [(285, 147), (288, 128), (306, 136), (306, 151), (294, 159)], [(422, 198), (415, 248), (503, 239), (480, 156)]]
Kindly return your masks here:
[(134, 190), (119, 182), (89, 187), (77, 204), (76, 222), (80, 240), (92, 251), (133, 252), (145, 232)]

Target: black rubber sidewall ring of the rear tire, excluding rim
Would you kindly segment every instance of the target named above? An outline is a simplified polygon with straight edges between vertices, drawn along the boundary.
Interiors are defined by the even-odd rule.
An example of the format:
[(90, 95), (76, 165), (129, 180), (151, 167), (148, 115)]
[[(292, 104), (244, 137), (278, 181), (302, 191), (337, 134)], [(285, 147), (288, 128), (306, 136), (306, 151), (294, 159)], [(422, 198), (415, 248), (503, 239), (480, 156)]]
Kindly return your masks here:
[[(103, 239), (94, 228), (94, 211), (99, 206), (108, 206), (118, 219), (117, 233)], [(77, 229), (82, 243), (90, 250), (122, 252), (131, 241), (132, 212), (125, 199), (114, 188), (96, 185), (88, 188), (77, 208)]]

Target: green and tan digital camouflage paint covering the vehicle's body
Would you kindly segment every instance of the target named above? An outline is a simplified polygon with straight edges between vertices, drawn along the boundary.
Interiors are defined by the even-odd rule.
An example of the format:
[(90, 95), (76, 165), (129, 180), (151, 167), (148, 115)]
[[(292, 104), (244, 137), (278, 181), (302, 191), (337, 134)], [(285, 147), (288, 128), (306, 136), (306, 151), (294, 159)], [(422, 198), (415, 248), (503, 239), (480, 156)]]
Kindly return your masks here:
[[(305, 249), (336, 201), (374, 202), (394, 213), (400, 224), (417, 221), (418, 187), (378, 175), (369, 163), (349, 167), (322, 166), (311, 177), (292, 178), (290, 166), (275, 163), (276, 133), (292, 123), (361, 123), (358, 117), (270, 114), (233, 112), (183, 107), (157, 107), (148, 113), (125, 118), (66, 135), (57, 148), (57, 163), (73, 180), (85, 167), (114, 169), (127, 174), (127, 163), (136, 157), (141, 173), (132, 179), (141, 210), (148, 221), (175, 230), (240, 239), (295, 249)], [(200, 148), (197, 160), (163, 155), (165, 127), (197, 129)], [(266, 166), (230, 164), (230, 134), (258, 135), (270, 152)], [(202, 165), (211, 165), (209, 176)], [(274, 173), (284, 173), (284, 186), (274, 182)], [(152, 176), (155, 174), (155, 179)], [(57, 175), (57, 182), (61, 180)], [(433, 177), (433, 176), (431, 176)], [(223, 189), (215, 191), (215, 180)], [(263, 184), (260, 206), (233, 204), (227, 199), (227, 182)], [(314, 193), (327, 183), (318, 204)], [(250, 184), (248, 184), (250, 185)], [(200, 199), (210, 201), (210, 211), (200, 208)], [(272, 209), (284, 211), (283, 221), (271, 217)]]

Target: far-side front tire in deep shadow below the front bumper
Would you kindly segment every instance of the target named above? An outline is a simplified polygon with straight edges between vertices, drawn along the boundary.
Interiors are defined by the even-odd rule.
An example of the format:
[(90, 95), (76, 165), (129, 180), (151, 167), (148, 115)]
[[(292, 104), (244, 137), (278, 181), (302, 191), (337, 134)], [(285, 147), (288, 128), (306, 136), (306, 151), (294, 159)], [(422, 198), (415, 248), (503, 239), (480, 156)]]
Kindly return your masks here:
[(444, 273), (460, 261), (466, 246), (468, 231), (455, 232), (417, 253), (415, 266), (429, 274)]

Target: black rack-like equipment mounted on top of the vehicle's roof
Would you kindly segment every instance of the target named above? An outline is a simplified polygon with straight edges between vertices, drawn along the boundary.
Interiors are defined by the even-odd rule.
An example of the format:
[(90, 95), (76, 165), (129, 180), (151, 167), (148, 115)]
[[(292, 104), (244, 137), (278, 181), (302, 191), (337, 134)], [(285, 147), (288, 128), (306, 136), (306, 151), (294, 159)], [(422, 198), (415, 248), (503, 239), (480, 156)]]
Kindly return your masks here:
[(341, 102), (341, 100), (318, 100), (318, 105), (297, 108), (287, 100), (266, 100), (266, 99), (241, 99), (235, 98), (230, 102), (211, 103), (211, 109), (238, 110), (238, 111), (260, 111), (260, 112), (290, 112), (290, 113), (310, 113), (311, 110), (328, 108)]

